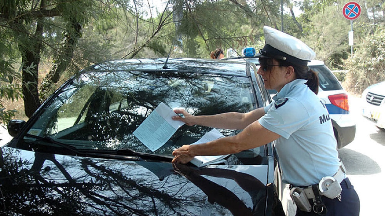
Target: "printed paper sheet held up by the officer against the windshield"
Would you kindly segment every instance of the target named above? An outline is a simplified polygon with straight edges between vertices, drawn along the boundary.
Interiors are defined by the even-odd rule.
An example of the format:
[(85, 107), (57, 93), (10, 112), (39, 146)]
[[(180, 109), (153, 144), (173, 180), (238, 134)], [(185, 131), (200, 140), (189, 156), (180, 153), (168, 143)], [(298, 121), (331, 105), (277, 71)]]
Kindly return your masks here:
[(132, 134), (151, 151), (156, 151), (184, 125), (182, 121), (172, 120), (171, 116), (176, 116), (176, 113), (162, 102)]

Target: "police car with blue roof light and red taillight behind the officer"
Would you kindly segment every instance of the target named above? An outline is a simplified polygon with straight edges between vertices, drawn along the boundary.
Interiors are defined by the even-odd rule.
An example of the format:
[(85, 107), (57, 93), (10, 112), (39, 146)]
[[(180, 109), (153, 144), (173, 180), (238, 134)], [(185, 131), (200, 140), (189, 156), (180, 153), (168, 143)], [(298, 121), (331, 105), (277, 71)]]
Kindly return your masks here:
[[(226, 53), (226, 57), (230, 57), (223, 58), (222, 60), (248, 61), (259, 65), (258, 58), (254, 57), (256, 51), (253, 47), (244, 48), (241, 52), (242, 56), (234, 56), (234, 53), (236, 53), (234, 50), (229, 50)], [(232, 55), (233, 57), (231, 57)], [(308, 66), (311, 70), (318, 73), (320, 81), (318, 96), (329, 111), (334, 135), (337, 140), (337, 148), (342, 148), (354, 140), (356, 133), (356, 124), (349, 115), (348, 95), (323, 61), (312, 60), (308, 63)], [(269, 93), (273, 97), (277, 92), (269, 90)]]

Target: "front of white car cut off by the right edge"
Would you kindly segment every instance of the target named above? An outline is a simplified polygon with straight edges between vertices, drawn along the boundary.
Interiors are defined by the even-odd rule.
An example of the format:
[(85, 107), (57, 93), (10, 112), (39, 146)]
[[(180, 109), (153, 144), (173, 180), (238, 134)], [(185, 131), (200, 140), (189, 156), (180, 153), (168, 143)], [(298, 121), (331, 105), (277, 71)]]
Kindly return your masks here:
[(362, 98), (362, 115), (375, 121), (377, 127), (385, 129), (385, 81), (366, 88)]

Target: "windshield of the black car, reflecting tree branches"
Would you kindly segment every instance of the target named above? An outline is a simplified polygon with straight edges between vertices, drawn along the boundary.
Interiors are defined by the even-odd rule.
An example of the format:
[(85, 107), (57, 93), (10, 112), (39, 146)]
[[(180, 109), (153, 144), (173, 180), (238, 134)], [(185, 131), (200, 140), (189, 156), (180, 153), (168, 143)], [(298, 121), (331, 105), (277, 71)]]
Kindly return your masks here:
[[(87, 72), (74, 78), (50, 100), (27, 133), (49, 137), (76, 149), (130, 148), (171, 155), (173, 148), (194, 143), (212, 128), (184, 125), (153, 152), (132, 133), (160, 103), (171, 109), (184, 108), (193, 115), (212, 115), (254, 110), (255, 100), (251, 80), (246, 76), (165, 71)], [(219, 131), (225, 136), (239, 133), (239, 130)], [(23, 140), (36, 141), (33, 136), (24, 136)], [(258, 154), (263, 149), (257, 148), (252, 153)]]

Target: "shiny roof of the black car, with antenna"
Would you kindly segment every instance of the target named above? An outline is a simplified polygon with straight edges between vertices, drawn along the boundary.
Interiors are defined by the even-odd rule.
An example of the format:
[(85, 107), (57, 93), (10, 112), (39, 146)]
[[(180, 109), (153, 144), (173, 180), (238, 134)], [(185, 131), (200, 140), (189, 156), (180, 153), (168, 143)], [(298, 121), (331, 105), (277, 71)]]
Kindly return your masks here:
[(85, 68), (82, 72), (119, 71), (119, 70), (161, 70), (215, 73), (246, 76), (246, 63), (199, 58), (121, 59), (104, 61)]

